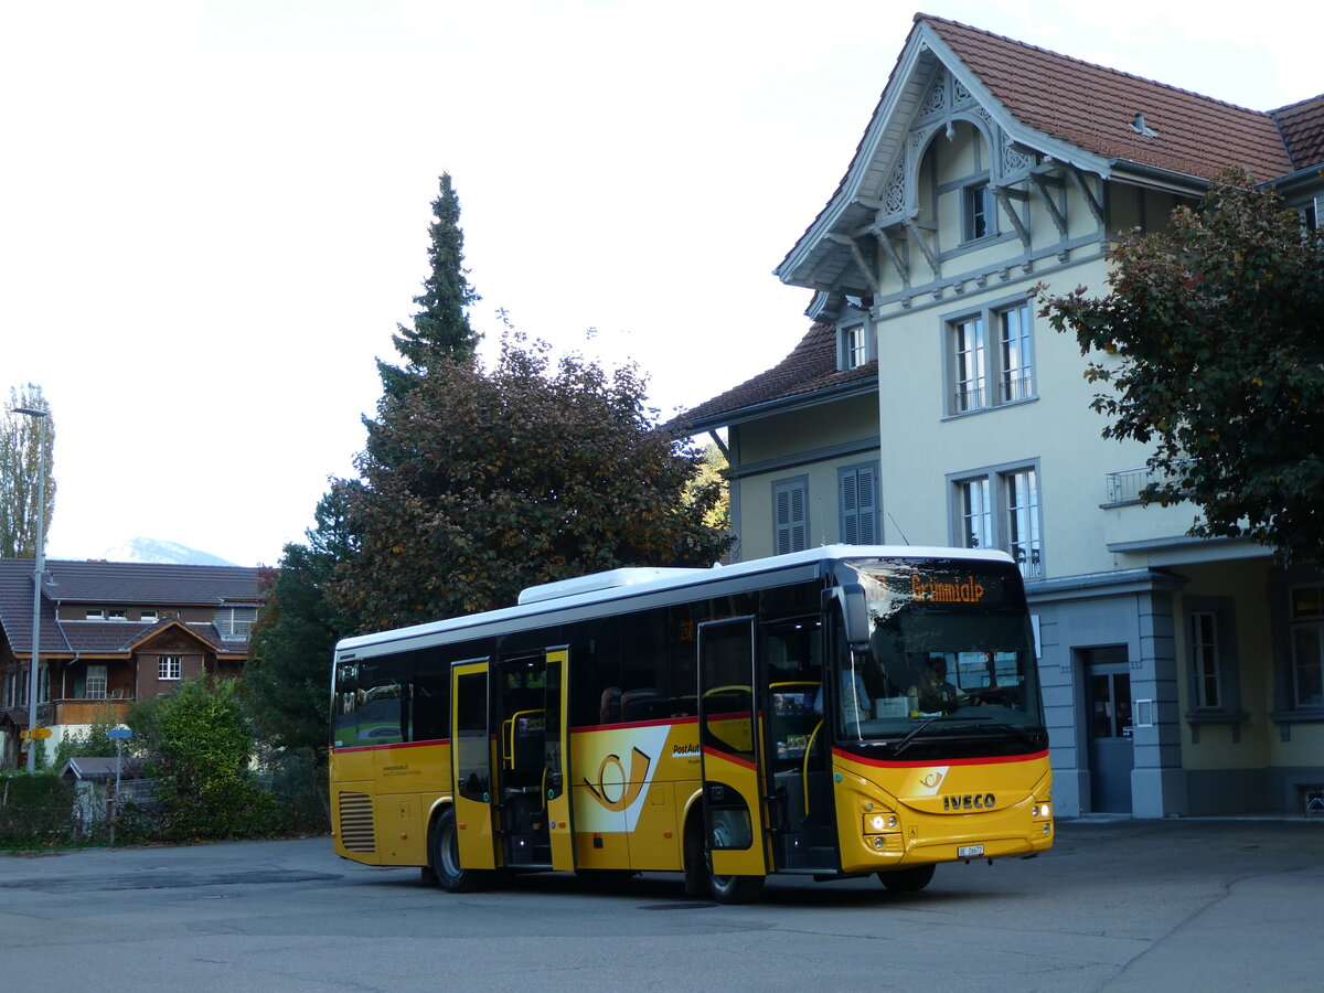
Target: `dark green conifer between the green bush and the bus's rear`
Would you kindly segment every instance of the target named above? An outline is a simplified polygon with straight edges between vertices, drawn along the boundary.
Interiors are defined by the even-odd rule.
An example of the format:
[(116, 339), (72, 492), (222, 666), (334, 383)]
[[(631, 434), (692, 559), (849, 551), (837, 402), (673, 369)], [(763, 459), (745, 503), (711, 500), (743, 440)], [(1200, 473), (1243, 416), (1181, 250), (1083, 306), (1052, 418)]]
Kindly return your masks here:
[(318, 503), (308, 543), (285, 545), (278, 569), (263, 571), (258, 584), (263, 608), (249, 642), (244, 670), (245, 696), (258, 733), (281, 748), (324, 752), (328, 740), (331, 653), (354, 630), (326, 597), (336, 563), (354, 551), (342, 494)]

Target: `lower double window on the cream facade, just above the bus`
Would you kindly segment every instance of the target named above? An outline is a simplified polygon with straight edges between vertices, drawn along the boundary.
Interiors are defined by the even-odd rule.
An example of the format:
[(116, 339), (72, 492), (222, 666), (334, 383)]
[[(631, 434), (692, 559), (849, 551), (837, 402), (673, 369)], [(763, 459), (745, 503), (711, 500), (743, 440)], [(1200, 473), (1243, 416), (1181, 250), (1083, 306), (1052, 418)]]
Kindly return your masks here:
[(948, 475), (952, 544), (1001, 548), (1025, 579), (1043, 579), (1043, 483), (1038, 459)]

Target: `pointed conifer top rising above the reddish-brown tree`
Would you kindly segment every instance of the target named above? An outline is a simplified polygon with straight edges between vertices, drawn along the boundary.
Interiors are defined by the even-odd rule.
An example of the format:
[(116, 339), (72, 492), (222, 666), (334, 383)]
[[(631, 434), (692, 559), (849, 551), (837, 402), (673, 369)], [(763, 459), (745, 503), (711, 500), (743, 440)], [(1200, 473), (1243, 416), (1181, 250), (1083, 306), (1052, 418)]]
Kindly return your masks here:
[(465, 234), (459, 228), (459, 197), (444, 172), (440, 192), (432, 201), (433, 222), (428, 228), (430, 275), (424, 291), (413, 302), (421, 310), (413, 315), (413, 327), (397, 324), (392, 336), (404, 367), (377, 360), (377, 372), (387, 396), (400, 399), (414, 383), (426, 376), (438, 357), (470, 359), (478, 335), (469, 324), (469, 307), (482, 299), (469, 285), (465, 269)]

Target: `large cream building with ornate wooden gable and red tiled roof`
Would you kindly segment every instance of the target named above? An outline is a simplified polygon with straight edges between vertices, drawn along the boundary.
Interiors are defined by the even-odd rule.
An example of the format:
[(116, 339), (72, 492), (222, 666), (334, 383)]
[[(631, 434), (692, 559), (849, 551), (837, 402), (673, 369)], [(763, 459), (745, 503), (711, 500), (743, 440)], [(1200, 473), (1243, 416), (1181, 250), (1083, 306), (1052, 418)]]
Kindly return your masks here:
[(1324, 784), (1324, 575), (1188, 538), (1189, 504), (1143, 506), (1148, 450), (1100, 438), (1086, 360), (1034, 297), (1106, 293), (1119, 234), (1227, 168), (1316, 229), (1321, 167), (1324, 95), (1251, 110), (916, 15), (776, 269), (812, 293), (810, 330), (675, 421), (727, 432), (740, 556), (1002, 548), (1059, 814), (1301, 812)]

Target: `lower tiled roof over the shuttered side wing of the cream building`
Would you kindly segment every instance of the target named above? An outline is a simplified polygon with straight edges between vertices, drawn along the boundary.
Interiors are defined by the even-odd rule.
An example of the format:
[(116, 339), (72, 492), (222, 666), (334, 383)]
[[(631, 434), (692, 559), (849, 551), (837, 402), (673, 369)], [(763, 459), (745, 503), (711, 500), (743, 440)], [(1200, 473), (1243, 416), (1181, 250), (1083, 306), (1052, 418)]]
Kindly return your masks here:
[(671, 421), (687, 432), (712, 430), (769, 412), (796, 400), (850, 396), (876, 389), (878, 360), (854, 369), (837, 368), (837, 326), (816, 323), (790, 354), (767, 372), (707, 400)]

